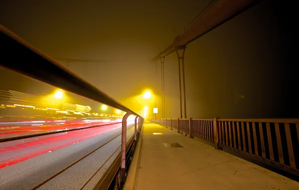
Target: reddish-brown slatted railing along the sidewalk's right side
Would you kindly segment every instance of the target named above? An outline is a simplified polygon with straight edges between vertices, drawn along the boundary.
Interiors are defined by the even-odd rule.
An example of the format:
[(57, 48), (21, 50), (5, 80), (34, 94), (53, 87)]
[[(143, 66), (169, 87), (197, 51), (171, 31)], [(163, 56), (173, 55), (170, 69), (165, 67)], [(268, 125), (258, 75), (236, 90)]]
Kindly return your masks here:
[(297, 118), (160, 118), (157, 123), (299, 175)]

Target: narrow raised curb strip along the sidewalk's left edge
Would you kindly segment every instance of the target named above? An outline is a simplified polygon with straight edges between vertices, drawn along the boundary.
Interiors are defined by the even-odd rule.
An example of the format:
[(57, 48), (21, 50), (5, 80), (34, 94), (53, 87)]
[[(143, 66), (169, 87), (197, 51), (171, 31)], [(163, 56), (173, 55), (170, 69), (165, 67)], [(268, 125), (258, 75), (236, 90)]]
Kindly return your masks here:
[(141, 132), (139, 138), (137, 140), (137, 144), (135, 147), (135, 151), (132, 157), (132, 161), (129, 166), (129, 170), (127, 173), (127, 177), (124, 183), (123, 190), (133, 190), (136, 189), (138, 173), (139, 173), (139, 165), (140, 165), (140, 157), (141, 157), (141, 144), (142, 144), (142, 136), (143, 136), (143, 128), (141, 128)]

